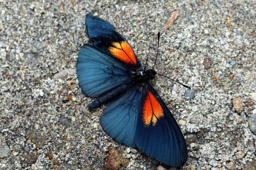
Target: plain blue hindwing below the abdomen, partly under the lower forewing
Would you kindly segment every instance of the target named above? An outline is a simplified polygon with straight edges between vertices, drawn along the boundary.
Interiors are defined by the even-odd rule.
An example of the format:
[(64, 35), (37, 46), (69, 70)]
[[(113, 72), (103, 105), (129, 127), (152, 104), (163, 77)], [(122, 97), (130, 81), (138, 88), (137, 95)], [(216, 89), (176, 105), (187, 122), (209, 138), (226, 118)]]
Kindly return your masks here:
[(134, 136), (142, 91), (133, 87), (104, 109), (100, 122), (104, 131), (119, 143), (136, 147)]

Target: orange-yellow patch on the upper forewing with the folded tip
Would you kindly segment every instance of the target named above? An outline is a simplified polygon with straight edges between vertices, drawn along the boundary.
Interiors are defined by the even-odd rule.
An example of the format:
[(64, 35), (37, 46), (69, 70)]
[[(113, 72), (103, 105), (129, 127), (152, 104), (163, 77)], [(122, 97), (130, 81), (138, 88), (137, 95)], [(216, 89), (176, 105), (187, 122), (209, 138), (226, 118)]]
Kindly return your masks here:
[(113, 42), (113, 47), (109, 47), (110, 53), (126, 63), (137, 65), (137, 60), (132, 47), (126, 41)]

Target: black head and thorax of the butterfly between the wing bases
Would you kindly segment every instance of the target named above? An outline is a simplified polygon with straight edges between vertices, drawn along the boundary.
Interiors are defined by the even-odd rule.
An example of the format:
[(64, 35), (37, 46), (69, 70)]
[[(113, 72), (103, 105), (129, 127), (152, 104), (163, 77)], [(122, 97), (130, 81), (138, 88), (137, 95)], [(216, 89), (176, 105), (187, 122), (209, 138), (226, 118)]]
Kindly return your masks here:
[(154, 77), (156, 77), (156, 72), (153, 69), (148, 69), (145, 72), (133, 72), (133, 81), (139, 84), (154, 79)]

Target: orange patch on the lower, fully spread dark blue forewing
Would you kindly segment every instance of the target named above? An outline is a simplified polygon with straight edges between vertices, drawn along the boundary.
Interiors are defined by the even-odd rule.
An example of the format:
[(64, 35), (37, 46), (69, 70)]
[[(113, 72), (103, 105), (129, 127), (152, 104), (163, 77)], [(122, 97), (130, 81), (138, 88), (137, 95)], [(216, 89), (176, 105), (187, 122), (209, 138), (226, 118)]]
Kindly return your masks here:
[(164, 111), (156, 97), (149, 91), (143, 106), (143, 121), (145, 126), (157, 124), (159, 118), (164, 117)]

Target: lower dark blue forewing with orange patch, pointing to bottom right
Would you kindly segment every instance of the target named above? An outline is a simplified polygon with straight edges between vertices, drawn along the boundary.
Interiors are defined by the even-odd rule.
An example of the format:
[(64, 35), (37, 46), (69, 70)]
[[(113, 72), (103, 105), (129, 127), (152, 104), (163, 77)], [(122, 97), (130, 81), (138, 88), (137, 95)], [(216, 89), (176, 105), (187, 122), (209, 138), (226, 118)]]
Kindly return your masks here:
[(136, 146), (149, 157), (173, 167), (187, 160), (186, 142), (170, 110), (150, 84), (140, 103)]

